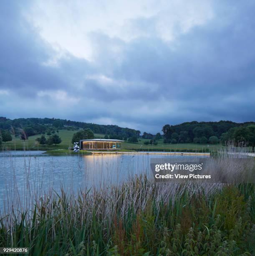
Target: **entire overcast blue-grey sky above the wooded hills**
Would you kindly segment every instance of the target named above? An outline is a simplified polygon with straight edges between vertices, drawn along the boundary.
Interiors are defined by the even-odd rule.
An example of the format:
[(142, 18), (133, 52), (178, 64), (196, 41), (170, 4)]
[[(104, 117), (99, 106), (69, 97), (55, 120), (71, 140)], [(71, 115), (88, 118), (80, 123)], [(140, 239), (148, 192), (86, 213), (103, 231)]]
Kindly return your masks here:
[(255, 1), (0, 1), (0, 116), (156, 133), (255, 121)]

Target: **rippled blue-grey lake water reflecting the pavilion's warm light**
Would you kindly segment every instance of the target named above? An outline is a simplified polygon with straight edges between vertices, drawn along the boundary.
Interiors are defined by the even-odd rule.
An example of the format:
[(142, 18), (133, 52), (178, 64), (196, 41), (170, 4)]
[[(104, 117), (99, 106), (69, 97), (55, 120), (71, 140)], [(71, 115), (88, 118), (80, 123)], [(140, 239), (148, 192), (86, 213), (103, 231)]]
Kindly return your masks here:
[[(158, 153), (158, 152), (157, 152)], [(207, 156), (92, 154), (49, 156), (43, 151), (0, 152), (0, 209), (10, 201), (40, 197), (53, 189), (77, 192), (105, 187), (135, 174), (150, 175), (151, 158), (194, 159)], [(31, 195), (33, 193), (33, 195)]]

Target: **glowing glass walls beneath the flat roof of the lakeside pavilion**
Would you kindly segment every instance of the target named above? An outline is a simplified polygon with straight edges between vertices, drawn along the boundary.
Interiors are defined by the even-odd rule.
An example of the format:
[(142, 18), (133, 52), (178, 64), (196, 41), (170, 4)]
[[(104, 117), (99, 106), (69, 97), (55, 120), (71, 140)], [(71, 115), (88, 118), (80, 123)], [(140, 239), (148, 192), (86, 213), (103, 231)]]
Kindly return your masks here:
[(82, 149), (107, 150), (121, 149), (121, 141), (81, 141)]

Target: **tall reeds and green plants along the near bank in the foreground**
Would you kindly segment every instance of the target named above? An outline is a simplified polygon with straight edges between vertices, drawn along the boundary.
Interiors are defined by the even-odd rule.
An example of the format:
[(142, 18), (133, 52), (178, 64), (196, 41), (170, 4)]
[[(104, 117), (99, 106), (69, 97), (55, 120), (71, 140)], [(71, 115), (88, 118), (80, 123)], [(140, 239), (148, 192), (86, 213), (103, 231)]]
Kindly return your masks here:
[(209, 196), (180, 185), (167, 202), (154, 196), (159, 186), (140, 177), (105, 193), (41, 197), (32, 212), (0, 217), (0, 247), (29, 247), (30, 255), (254, 255), (254, 184)]

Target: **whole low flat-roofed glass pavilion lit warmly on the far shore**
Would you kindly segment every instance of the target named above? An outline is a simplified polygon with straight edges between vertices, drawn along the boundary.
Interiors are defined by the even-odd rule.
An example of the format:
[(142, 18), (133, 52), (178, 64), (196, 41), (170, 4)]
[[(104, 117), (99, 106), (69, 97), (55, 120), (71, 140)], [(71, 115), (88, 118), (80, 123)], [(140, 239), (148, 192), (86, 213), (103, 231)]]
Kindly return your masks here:
[(109, 139), (87, 139), (80, 140), (80, 149), (83, 150), (120, 150), (122, 148), (121, 140)]

